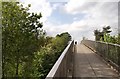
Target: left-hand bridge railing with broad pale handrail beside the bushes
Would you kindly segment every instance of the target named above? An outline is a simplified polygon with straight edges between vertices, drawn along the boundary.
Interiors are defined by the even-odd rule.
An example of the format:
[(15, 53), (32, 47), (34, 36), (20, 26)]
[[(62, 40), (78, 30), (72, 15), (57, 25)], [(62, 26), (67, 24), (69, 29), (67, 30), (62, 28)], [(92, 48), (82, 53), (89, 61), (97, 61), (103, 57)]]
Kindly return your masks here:
[(59, 79), (61, 77), (67, 78), (72, 76), (73, 71), (73, 51), (74, 51), (74, 41), (70, 41), (69, 45), (63, 51), (61, 56), (58, 58), (50, 72), (48, 73), (46, 79)]

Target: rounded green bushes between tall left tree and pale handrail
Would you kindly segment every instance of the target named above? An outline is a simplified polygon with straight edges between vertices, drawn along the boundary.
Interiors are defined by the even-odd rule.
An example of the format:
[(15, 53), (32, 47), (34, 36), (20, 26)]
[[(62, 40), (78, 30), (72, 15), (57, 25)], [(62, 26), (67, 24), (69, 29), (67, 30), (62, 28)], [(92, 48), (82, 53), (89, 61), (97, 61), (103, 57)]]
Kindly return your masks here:
[(71, 40), (71, 36), (67, 32), (57, 35), (55, 38), (47, 37), (47, 40), (48, 38), (50, 42), (45, 47), (42, 47), (40, 51), (36, 52), (36, 62), (39, 63), (36, 72), (40, 72), (37, 76), (42, 79), (47, 76), (56, 60), (68, 45), (68, 42)]

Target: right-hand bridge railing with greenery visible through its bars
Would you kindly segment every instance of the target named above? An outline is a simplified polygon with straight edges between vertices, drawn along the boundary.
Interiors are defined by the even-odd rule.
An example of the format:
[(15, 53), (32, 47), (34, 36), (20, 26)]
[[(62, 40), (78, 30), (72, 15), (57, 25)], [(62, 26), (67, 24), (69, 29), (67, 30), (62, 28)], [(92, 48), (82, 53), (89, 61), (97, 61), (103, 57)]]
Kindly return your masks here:
[(101, 55), (120, 72), (120, 45), (91, 40), (82, 40), (81, 43)]

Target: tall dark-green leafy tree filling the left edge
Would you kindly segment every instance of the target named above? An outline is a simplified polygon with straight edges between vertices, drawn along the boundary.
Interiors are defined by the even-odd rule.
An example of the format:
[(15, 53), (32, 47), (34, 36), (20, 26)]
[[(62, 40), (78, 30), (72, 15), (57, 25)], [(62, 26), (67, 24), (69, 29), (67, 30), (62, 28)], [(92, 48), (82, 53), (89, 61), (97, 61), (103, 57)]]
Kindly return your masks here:
[(29, 7), (23, 8), (18, 2), (2, 3), (3, 77), (23, 76), (39, 47), (38, 28), (42, 23), (38, 20), (42, 16), (28, 13)]

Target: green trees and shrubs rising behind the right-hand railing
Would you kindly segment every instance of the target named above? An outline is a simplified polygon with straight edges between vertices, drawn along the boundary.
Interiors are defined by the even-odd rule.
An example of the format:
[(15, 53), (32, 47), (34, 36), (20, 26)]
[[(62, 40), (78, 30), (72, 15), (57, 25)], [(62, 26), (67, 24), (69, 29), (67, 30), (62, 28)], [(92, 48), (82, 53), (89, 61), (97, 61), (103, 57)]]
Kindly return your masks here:
[(120, 44), (120, 34), (111, 36), (110, 26), (103, 27), (103, 30), (94, 30), (95, 40), (108, 43)]

